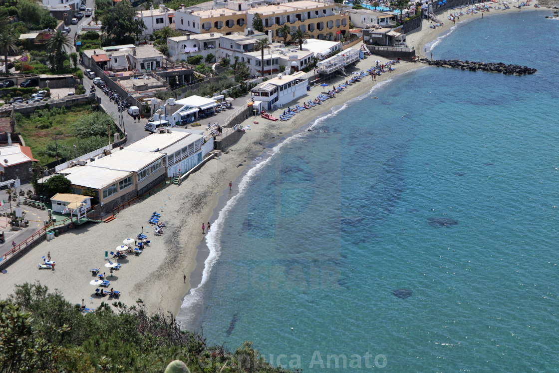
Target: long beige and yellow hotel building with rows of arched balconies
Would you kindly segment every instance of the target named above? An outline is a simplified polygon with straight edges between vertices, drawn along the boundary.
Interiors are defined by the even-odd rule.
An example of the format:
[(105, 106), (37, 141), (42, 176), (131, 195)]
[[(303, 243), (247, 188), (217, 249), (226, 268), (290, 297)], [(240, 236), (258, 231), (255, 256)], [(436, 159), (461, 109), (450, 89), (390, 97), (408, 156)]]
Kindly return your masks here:
[(349, 17), (336, 11), (334, 2), (311, 0), (277, 2), (266, 6), (229, 1), (226, 8), (201, 11), (181, 7), (175, 12), (176, 29), (196, 34), (223, 32), (229, 35), (252, 27), (256, 13), (262, 18), (264, 30), (271, 30), (273, 39), (277, 41), (283, 40), (277, 35), (277, 29), (285, 23), (294, 31), (308, 32), (311, 39), (340, 40), (349, 32)]

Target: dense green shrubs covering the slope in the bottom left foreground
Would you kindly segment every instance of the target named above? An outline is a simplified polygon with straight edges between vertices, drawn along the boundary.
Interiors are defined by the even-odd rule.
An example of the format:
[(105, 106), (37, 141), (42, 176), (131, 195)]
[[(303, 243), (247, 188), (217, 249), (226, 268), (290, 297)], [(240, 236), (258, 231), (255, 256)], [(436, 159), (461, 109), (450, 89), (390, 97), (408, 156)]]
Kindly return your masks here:
[(0, 301), (0, 371), (150, 373), (179, 359), (192, 372), (285, 372), (250, 342), (235, 352), (208, 346), (200, 334), (181, 330), (172, 314), (150, 316), (141, 300), (136, 303), (102, 303), (82, 314), (46, 286), (17, 286)]

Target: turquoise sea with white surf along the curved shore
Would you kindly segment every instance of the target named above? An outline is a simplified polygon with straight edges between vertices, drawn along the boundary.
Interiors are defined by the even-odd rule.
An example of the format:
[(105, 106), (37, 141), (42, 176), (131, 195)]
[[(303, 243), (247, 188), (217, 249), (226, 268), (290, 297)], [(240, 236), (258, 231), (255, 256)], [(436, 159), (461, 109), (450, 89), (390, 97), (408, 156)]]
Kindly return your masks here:
[(534, 75), (415, 70), (269, 149), (212, 224), (178, 319), (309, 372), (556, 371), (559, 22), (545, 15), (463, 22), (433, 44)]

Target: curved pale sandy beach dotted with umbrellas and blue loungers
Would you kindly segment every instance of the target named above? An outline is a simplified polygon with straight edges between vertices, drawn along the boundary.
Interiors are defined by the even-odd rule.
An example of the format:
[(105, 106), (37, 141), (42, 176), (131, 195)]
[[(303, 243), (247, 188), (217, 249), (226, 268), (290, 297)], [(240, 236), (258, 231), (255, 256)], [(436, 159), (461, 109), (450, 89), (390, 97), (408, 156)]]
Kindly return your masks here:
[[(529, 9), (534, 10), (533, 7)], [(518, 11), (524, 10), (517, 8), (506, 11), (491, 10), (485, 13), (484, 17)], [(438, 15), (438, 18), (444, 22), (443, 26), (430, 29), (429, 21), (423, 20), (420, 29), (406, 36), (409, 44), (414, 41), (420, 57), (425, 56), (425, 44), (453, 26), (447, 19), (450, 12), (455, 11)], [(456, 25), (470, 18), (481, 18), (481, 13), (461, 16)], [(374, 61), (377, 59), (382, 62), (387, 61), (386, 58), (375, 55), (367, 56), (354, 70), (366, 70), (375, 65)], [(53, 241), (41, 243), (32, 249), (8, 267), (6, 274), (0, 274), (1, 296), (6, 297), (11, 294), (16, 284), (40, 281), (51, 290), (58, 289), (72, 303), (81, 303), (82, 299), (85, 299), (89, 307), (97, 307), (102, 301), (112, 303), (113, 300), (108, 297), (95, 296), (96, 286), (89, 284), (89, 281), (94, 279), (89, 270), (100, 267), (101, 272), (106, 272), (107, 280), (111, 281), (108, 289), (112, 287), (120, 291), (122, 293), (120, 301), (123, 303), (134, 305), (136, 300), (141, 299), (148, 311), (169, 310), (176, 315), (182, 298), (190, 291), (191, 285), (197, 286), (197, 284), (190, 284), (190, 275), (196, 266), (197, 247), (204, 237), (202, 223), (210, 220), (220, 196), (225, 194), (225, 198), (229, 198), (238, 192), (236, 178), (262, 153), (263, 148), (300, 129), (315, 117), (330, 112), (333, 107), (341, 106), (348, 100), (367, 93), (375, 84), (421, 67), (425, 65), (419, 62), (402, 61), (395, 65), (394, 72), (382, 74), (376, 81), (372, 81), (368, 76), (361, 82), (352, 84), (336, 97), (310, 110), (305, 110), (286, 122), (272, 122), (261, 117), (247, 119), (243, 122), (243, 126), (250, 125), (251, 129), (243, 138), (219, 159), (207, 162), (200, 171), (192, 174), (181, 185), (170, 185), (149, 199), (121, 211), (110, 223), (89, 223), (78, 226)], [(347, 79), (340, 77), (328, 83), (331, 86)], [(323, 88), (315, 86), (299, 102), (314, 100), (320, 93), (323, 93)], [(240, 99), (236, 102), (239, 102), (237, 105), (241, 104)], [(296, 103), (294, 101), (292, 105)], [(283, 109), (278, 110), (273, 115), (277, 117), (282, 111)], [(258, 121), (258, 124), (253, 124), (253, 121)], [(230, 180), (233, 181), (231, 192), (228, 186)], [(153, 211), (161, 214), (162, 220), (167, 223), (165, 233), (161, 236), (155, 236), (153, 226), (147, 224)], [(151, 240), (150, 246), (138, 256), (132, 254), (127, 259), (119, 260), (122, 268), (111, 276), (109, 268), (105, 267), (107, 261), (103, 259), (103, 253), (115, 251), (124, 239), (135, 238), (142, 229)], [(42, 262), (41, 257), (46, 256), (49, 251), (51, 258), (56, 262), (56, 269), (54, 271), (37, 269), (37, 265)], [(183, 281), (184, 275), (187, 276), (186, 282)]]

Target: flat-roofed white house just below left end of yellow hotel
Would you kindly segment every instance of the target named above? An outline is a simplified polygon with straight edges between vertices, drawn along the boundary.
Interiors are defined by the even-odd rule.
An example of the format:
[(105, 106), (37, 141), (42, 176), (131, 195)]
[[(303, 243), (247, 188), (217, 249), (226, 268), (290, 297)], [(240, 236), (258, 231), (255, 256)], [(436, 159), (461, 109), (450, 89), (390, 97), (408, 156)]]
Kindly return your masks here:
[(210, 32), (209, 34), (186, 35), (167, 38), (170, 58), (175, 61), (186, 61), (188, 57), (202, 55), (206, 58), (208, 54), (217, 56), (219, 51), (219, 39), (223, 34)]

